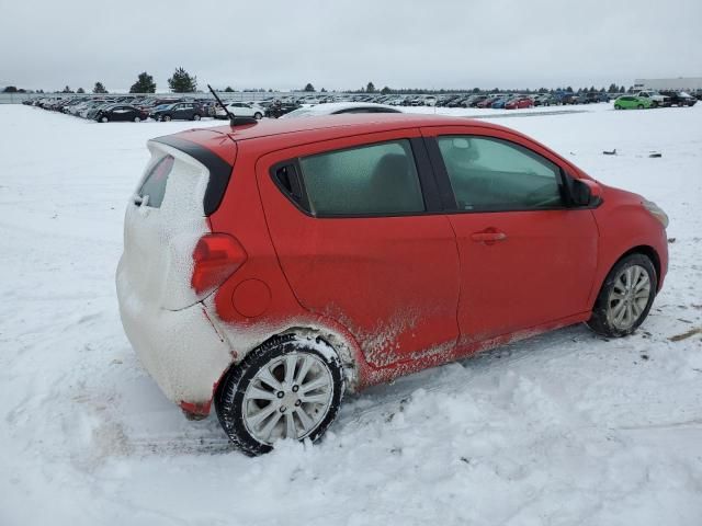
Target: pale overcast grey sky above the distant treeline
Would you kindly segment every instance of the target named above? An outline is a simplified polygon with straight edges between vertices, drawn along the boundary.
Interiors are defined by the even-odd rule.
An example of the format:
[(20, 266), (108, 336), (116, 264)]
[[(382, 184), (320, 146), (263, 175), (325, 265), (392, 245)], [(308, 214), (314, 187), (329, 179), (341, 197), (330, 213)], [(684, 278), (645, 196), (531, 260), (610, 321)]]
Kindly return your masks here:
[(0, 0), (0, 85), (630, 85), (702, 77), (702, 1)]

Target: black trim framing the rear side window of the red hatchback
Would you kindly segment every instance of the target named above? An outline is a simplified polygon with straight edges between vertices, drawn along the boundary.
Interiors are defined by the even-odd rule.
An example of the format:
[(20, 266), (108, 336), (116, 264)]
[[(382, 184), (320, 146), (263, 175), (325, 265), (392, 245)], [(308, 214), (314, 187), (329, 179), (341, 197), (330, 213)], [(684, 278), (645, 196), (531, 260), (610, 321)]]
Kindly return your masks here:
[[(375, 145), (382, 145), (386, 142), (396, 142), (400, 140), (407, 140), (412, 150), (412, 158), (415, 161), (415, 168), (417, 170), (417, 176), (419, 180), (419, 187), (421, 191), (422, 199), (424, 202), (424, 209), (421, 211), (403, 211), (403, 213), (366, 213), (366, 214), (313, 214), (309, 207), (309, 197), (305, 188), (305, 181), (302, 175), (302, 168), (299, 165), (301, 157), (287, 159), (285, 161), (276, 162), (270, 168), (270, 175), (275, 186), (281, 193), (290, 201), (295, 208), (305, 214), (308, 217), (316, 219), (362, 219), (362, 218), (382, 218), (382, 217), (421, 217), (444, 214), (444, 208), (439, 196), (437, 186), (437, 179), (432, 169), (432, 163), (429, 160), (427, 147), (422, 137), (397, 137), (393, 139), (376, 140), (372, 142), (363, 142), (347, 148), (333, 148), (325, 150), (322, 153), (330, 153), (335, 151), (353, 150), (359, 148), (371, 147)], [(305, 157), (305, 156), (302, 156)], [(296, 199), (287, 190), (283, 183), (279, 180), (278, 171), (282, 168), (292, 169), (293, 179), (292, 185), (296, 185), (302, 192), (302, 198)], [(288, 174), (290, 176), (290, 174)]]

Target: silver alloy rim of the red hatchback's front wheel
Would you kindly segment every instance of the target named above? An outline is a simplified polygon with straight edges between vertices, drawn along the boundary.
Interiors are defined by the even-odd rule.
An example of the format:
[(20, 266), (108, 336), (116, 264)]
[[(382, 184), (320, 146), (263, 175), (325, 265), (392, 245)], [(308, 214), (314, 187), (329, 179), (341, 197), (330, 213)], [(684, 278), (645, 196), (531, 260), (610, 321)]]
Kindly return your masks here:
[(607, 301), (607, 317), (620, 330), (631, 329), (642, 317), (650, 298), (650, 279), (643, 266), (622, 270)]

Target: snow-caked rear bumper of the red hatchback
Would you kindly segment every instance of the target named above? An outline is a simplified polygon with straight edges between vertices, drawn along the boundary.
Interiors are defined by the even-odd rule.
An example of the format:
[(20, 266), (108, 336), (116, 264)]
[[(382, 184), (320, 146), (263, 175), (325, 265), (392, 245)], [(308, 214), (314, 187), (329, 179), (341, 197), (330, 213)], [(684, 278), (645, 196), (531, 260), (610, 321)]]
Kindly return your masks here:
[(149, 305), (131, 289), (122, 266), (121, 262), (117, 297), (122, 324), (144, 367), (169, 400), (208, 403), (231, 355), (203, 305), (182, 310)]

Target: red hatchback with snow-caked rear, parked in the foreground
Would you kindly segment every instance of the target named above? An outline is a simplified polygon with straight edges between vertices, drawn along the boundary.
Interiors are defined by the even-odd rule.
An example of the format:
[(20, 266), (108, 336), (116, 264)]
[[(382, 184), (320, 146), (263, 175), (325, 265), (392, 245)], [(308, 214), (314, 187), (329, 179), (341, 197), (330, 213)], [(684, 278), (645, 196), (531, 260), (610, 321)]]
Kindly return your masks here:
[(573, 323), (623, 336), (668, 266), (667, 217), (484, 122), (267, 121), (152, 139), (131, 198), (125, 332), (186, 415), (261, 454), (344, 390)]

